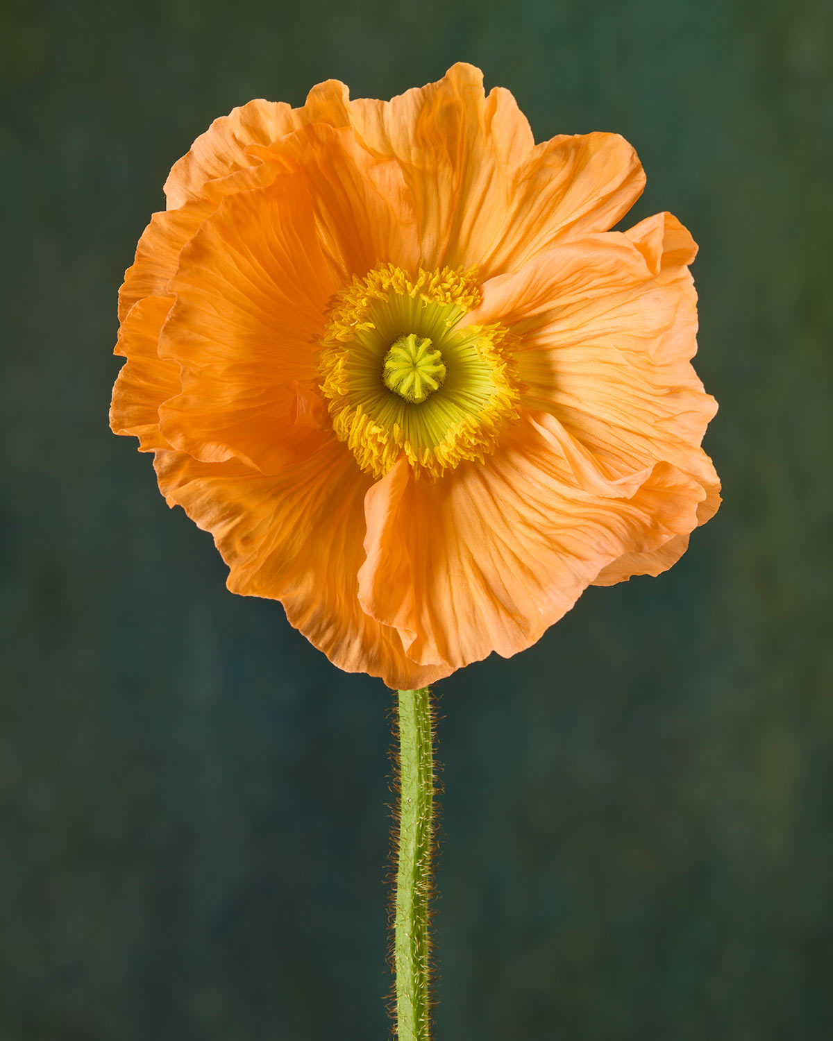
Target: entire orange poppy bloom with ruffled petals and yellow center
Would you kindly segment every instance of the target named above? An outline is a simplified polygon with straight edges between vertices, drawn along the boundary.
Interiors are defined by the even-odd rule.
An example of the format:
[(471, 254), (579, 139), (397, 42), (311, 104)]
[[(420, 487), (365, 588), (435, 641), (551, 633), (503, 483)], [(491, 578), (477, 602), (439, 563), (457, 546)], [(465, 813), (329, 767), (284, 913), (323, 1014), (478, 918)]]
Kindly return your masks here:
[(120, 294), (111, 426), (233, 592), (426, 686), (658, 575), (720, 503), (697, 251), (611, 133), (535, 145), (457, 65), (252, 101), (171, 171)]

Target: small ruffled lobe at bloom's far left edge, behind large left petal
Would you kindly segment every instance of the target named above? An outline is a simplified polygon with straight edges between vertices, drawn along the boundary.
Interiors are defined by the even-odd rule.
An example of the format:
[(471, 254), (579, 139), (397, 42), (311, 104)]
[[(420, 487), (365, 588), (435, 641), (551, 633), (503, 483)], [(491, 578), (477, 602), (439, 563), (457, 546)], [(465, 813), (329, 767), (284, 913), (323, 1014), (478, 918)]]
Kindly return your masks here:
[(116, 354), (127, 358), (112, 388), (110, 428), (138, 438), (140, 452), (170, 448), (159, 433), (159, 406), (179, 393), (179, 365), (156, 353), (172, 300), (148, 297), (122, 323)]

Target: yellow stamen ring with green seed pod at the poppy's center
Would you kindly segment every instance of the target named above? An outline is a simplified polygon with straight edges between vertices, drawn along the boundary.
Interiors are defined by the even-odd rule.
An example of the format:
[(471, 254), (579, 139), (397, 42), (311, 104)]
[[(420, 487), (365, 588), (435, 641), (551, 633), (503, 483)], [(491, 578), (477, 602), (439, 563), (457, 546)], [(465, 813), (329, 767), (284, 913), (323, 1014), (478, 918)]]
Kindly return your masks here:
[(414, 477), (482, 460), (518, 418), (516, 337), (465, 325), (476, 270), (394, 264), (354, 278), (333, 300), (319, 375), (335, 435), (359, 466), (383, 477), (403, 455)]

